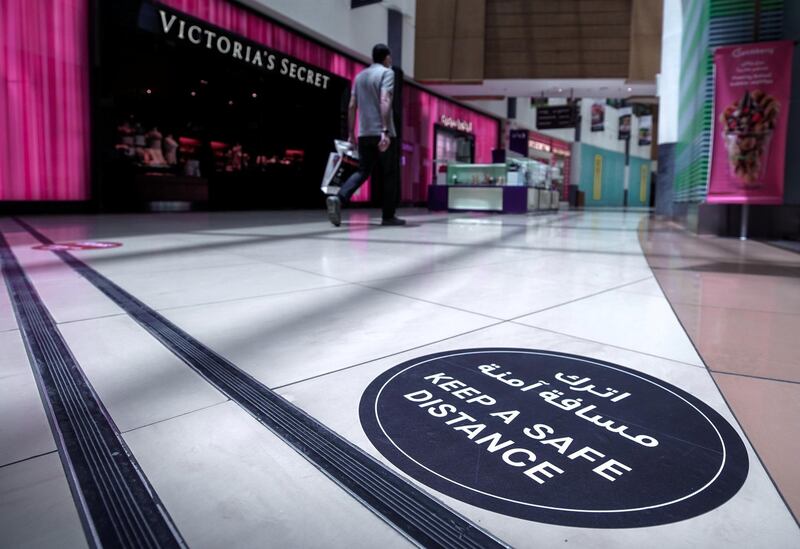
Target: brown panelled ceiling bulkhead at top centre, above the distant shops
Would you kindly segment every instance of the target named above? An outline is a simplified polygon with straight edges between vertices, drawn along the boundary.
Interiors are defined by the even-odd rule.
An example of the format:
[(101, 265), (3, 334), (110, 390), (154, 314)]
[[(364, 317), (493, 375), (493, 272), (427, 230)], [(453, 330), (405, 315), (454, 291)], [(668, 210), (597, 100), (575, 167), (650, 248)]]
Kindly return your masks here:
[(456, 96), (652, 96), (661, 11), (662, 0), (417, 0), (415, 77)]

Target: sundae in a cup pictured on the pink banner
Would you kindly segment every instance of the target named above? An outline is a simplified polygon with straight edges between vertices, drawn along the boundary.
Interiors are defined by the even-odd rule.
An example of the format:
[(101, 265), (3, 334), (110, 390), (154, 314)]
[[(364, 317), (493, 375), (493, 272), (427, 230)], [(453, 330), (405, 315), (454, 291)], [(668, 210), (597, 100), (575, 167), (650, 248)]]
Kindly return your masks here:
[(763, 180), (779, 110), (774, 97), (757, 89), (745, 91), (720, 115), (731, 176), (746, 188)]

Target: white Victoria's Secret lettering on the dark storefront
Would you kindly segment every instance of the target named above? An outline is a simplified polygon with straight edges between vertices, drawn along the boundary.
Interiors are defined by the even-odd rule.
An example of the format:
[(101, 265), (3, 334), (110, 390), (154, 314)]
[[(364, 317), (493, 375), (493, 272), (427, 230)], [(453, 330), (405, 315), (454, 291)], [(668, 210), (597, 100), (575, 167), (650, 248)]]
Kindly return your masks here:
[(275, 72), (323, 90), (328, 89), (331, 76), (293, 60), (281, 53), (244, 41), (216, 27), (203, 25), (176, 13), (158, 8), (158, 29), (170, 38), (183, 40), (199, 48), (237, 59), (255, 67)]

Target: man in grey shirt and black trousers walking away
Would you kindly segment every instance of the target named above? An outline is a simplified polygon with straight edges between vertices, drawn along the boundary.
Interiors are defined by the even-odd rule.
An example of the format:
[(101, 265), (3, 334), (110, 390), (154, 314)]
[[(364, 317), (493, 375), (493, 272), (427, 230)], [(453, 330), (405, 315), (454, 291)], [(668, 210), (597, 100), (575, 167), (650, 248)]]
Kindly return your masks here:
[(376, 165), (383, 171), (382, 225), (405, 225), (395, 216), (400, 191), (397, 177), (397, 133), (392, 117), (394, 72), (392, 55), (384, 44), (372, 48), (372, 65), (361, 71), (353, 83), (348, 108), (350, 142), (355, 144), (355, 121), (358, 112), (358, 171), (345, 181), (339, 193), (327, 199), (328, 219), (335, 226), (342, 223), (342, 204), (347, 204), (358, 188), (372, 174)]

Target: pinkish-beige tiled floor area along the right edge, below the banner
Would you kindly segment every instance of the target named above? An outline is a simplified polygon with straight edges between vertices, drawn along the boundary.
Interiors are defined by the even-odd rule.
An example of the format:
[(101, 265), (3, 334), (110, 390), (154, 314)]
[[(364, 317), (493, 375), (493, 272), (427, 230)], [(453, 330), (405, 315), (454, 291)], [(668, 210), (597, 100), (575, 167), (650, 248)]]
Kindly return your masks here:
[[(653, 222), (648, 261), (795, 517), (800, 423), (800, 255), (762, 242), (695, 236)], [(681, 265), (691, 256), (694, 264)], [(773, 381), (774, 380), (774, 381)], [(785, 412), (785, 413), (784, 413)]]

